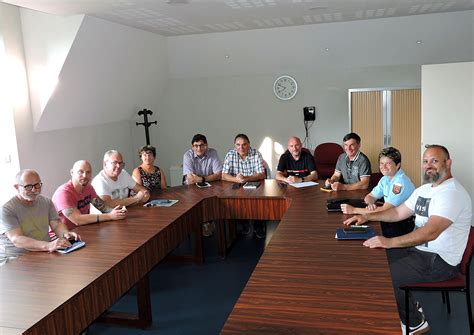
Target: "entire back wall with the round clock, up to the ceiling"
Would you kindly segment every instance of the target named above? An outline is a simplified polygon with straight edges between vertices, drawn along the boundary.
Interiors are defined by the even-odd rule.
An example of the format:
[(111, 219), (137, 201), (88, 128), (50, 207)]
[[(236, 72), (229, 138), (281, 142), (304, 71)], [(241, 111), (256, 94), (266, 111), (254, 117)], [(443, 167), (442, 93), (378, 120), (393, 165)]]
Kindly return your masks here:
[[(238, 132), (256, 147), (267, 136), (285, 146), (289, 136), (304, 136), (304, 106), (319, 110), (310, 147), (340, 143), (349, 131), (348, 89), (419, 87), (422, 64), (472, 60), (472, 17), (469, 11), (168, 38), (170, 80), (160, 125), (152, 128), (159, 163), (180, 164), (196, 132), (208, 135), (221, 158)], [(273, 94), (281, 74), (298, 81), (291, 101)], [(276, 160), (274, 153), (272, 167)]]

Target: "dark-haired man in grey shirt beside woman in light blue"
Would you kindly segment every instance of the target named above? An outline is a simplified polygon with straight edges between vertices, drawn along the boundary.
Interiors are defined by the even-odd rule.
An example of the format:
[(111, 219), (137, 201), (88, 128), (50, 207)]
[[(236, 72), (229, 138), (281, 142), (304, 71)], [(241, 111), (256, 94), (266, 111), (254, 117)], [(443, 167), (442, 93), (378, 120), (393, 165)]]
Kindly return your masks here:
[(325, 182), (334, 191), (365, 190), (369, 187), (370, 161), (360, 151), (360, 137), (356, 133), (344, 136), (344, 153), (337, 159), (336, 169)]

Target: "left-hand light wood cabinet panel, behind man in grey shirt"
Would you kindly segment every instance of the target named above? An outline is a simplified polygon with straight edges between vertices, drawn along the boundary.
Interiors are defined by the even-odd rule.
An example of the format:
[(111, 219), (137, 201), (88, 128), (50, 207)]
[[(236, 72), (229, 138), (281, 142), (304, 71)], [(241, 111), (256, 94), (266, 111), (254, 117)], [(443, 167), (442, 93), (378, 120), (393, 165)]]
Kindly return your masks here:
[(361, 151), (372, 164), (372, 172), (378, 172), (378, 154), (383, 148), (382, 91), (351, 93), (351, 127), (361, 141)]

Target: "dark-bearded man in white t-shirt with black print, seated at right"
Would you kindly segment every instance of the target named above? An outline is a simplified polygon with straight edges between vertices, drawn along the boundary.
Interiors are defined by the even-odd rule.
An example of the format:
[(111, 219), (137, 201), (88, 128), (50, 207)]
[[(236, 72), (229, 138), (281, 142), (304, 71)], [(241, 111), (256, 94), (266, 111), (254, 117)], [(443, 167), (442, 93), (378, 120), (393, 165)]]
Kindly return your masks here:
[[(354, 216), (344, 224), (366, 221), (400, 221), (415, 214), (415, 230), (386, 238), (375, 236), (364, 242), (369, 248), (387, 249), (398, 313), (405, 334), (405, 294), (401, 286), (436, 282), (459, 273), (471, 228), (471, 198), (451, 175), (452, 161), (441, 145), (429, 145), (423, 154), (424, 181), (400, 206), (386, 211)], [(410, 334), (424, 334), (430, 326), (419, 302), (410, 296)]]

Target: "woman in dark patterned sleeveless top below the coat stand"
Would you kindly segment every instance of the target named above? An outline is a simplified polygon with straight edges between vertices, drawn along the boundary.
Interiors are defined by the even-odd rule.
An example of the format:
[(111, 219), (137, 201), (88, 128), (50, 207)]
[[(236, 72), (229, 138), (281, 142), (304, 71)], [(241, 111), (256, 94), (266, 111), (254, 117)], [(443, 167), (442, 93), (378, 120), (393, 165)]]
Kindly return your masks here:
[(156, 149), (154, 146), (145, 145), (138, 150), (142, 164), (132, 172), (133, 179), (146, 187), (150, 192), (166, 188), (166, 177), (158, 166), (154, 165)]

